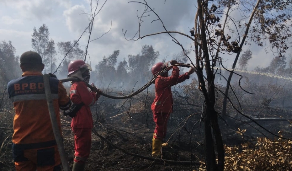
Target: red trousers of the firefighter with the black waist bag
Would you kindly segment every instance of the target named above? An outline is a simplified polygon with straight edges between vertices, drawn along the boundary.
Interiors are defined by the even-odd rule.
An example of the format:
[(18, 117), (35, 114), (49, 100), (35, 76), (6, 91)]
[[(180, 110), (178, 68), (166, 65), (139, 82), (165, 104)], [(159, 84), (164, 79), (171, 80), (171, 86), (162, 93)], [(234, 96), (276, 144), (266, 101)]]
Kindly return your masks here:
[(75, 140), (74, 162), (85, 163), (91, 147), (91, 128), (73, 128)]

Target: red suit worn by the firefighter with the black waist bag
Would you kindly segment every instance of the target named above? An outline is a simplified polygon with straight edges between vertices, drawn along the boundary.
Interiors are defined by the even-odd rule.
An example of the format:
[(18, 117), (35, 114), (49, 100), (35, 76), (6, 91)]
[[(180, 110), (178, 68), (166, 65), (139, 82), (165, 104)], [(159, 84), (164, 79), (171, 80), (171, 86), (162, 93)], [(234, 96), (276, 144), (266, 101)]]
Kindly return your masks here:
[(91, 129), (93, 128), (92, 106), (96, 98), (95, 92), (90, 92), (84, 82), (74, 82), (70, 88), (70, 98), (74, 104), (84, 103), (73, 117), (71, 127), (74, 132), (75, 153), (74, 162), (85, 163), (91, 147)]

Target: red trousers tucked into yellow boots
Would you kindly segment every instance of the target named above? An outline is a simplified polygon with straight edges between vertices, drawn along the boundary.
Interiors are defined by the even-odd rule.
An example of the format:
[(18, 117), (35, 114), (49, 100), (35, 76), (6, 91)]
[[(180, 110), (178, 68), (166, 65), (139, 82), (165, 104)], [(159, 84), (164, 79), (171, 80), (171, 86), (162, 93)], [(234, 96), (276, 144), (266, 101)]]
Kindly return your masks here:
[(155, 129), (153, 137), (162, 140), (166, 135), (167, 121), (170, 113), (153, 113), (153, 120), (155, 122)]

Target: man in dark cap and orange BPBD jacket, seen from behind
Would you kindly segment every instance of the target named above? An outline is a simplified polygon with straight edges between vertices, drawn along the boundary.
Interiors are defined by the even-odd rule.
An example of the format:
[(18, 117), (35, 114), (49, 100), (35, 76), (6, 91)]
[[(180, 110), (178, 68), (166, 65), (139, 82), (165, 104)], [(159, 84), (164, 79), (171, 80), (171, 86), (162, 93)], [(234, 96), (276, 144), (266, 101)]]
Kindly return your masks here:
[[(22, 77), (7, 85), (15, 109), (12, 136), (15, 170), (59, 171), (61, 158), (46, 102), (42, 58), (34, 51), (24, 52), (20, 56), (20, 67)], [(53, 76), (50, 77), (53, 105), (61, 131), (60, 109), (69, 109), (71, 100), (62, 83), (50, 75)]]

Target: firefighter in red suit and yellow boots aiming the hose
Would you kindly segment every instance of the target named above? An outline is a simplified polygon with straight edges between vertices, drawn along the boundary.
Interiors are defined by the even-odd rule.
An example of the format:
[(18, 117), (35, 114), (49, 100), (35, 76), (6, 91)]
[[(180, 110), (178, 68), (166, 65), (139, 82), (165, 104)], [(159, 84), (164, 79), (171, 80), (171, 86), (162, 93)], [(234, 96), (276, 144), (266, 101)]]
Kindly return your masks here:
[[(171, 65), (178, 64), (177, 61), (172, 60)], [(164, 70), (167, 66), (162, 62), (158, 62), (151, 68), (151, 72), (156, 76), (159, 72)], [(152, 138), (152, 156), (157, 157), (161, 155), (161, 147), (166, 146), (167, 143), (162, 144), (162, 139), (166, 135), (167, 121), (169, 115), (173, 112), (173, 96), (171, 93), (171, 86), (189, 79), (189, 75), (194, 73), (194, 68), (188, 72), (179, 75), (179, 68), (172, 67), (171, 76), (168, 76), (168, 70), (161, 72), (155, 79), (155, 99), (151, 105), (153, 112), (153, 120), (155, 122), (155, 130)]]

